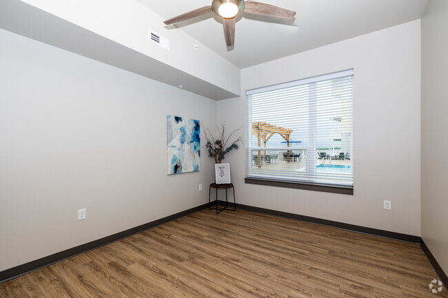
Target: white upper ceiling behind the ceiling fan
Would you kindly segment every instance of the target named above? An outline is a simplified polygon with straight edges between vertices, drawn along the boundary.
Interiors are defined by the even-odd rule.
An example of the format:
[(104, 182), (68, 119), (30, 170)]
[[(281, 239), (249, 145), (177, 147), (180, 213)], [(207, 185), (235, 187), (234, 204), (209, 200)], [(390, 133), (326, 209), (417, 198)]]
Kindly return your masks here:
[[(212, 0), (139, 0), (164, 19)], [(258, 0), (297, 12), (294, 21), (238, 14), (235, 45), (225, 45), (221, 18), (214, 13), (167, 26), (183, 30), (234, 65), (245, 68), (298, 52), (420, 19), (428, 0)]]

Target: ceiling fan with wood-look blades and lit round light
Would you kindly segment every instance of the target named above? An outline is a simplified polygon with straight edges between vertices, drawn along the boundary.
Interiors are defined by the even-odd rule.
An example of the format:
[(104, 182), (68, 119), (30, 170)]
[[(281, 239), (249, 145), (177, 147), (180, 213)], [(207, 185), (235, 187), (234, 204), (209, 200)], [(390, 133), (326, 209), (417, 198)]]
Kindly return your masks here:
[(211, 6), (204, 6), (202, 8), (192, 10), (191, 12), (181, 14), (180, 16), (164, 21), (163, 23), (165, 23), (166, 25), (172, 25), (174, 23), (179, 23), (180, 21), (199, 17), (209, 12), (214, 12), (219, 17), (223, 18), (225, 43), (227, 43), (227, 47), (230, 47), (234, 45), (235, 41), (236, 14), (238, 14), (238, 12), (242, 12), (243, 10), (244, 12), (250, 14), (258, 14), (262, 16), (283, 19), (294, 19), (294, 16), (296, 15), (296, 12), (293, 12), (291, 10), (256, 1), (213, 0)]

